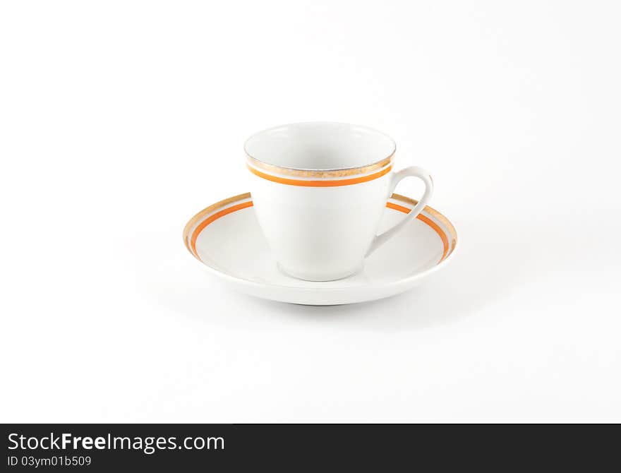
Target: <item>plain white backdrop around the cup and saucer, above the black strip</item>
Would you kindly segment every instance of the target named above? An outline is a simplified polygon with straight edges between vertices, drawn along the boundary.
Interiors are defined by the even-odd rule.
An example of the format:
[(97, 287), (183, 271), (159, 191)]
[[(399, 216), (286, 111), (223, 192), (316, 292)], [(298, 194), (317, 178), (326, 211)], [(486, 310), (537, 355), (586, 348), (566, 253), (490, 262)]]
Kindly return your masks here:
[[(4, 1), (1, 421), (621, 421), (610, 1)], [(373, 126), (461, 249), (309, 307), (186, 251), (242, 145)], [(399, 186), (416, 197), (414, 179)]]

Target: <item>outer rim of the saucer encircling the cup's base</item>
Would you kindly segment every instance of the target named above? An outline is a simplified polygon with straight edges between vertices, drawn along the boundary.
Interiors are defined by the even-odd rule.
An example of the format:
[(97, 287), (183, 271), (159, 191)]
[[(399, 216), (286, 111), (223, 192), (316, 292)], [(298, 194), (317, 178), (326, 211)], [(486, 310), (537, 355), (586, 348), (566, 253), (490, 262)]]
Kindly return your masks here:
[[(443, 258), (440, 262), (438, 262), (438, 264), (434, 265), (431, 268), (423, 270), (421, 273), (416, 273), (414, 275), (403, 277), (401, 279), (390, 281), (390, 282), (385, 282), (385, 283), (377, 283), (377, 282), (375, 282), (375, 283), (361, 284), (361, 285), (356, 285), (356, 286), (351, 286), (351, 287), (324, 287), (324, 285), (330, 285), (330, 282), (333, 282), (333, 281), (322, 281), (322, 282), (307, 281), (310, 284), (313, 284), (313, 286), (308, 286), (308, 287), (287, 286), (287, 285), (274, 284), (272, 282), (256, 282), (256, 281), (253, 281), (253, 280), (244, 279), (243, 277), (231, 275), (229, 273), (224, 272), (223, 270), (220, 270), (218, 268), (214, 268), (213, 266), (205, 263), (205, 261), (201, 260), (197, 255), (195, 255), (195, 253), (191, 250), (191, 247), (188, 244), (188, 235), (189, 235), (191, 229), (195, 226), (195, 224), (197, 222), (202, 220), (205, 217), (205, 215), (209, 215), (211, 212), (213, 212), (217, 208), (222, 207), (223, 205), (229, 205), (229, 204), (237, 202), (239, 200), (246, 200), (248, 198), (251, 199), (252, 196), (251, 196), (251, 193), (246, 192), (246, 193), (238, 194), (237, 196), (232, 196), (232, 197), (229, 197), (229, 198), (225, 198), (225, 199), (219, 200), (218, 202), (213, 203), (212, 205), (207, 206), (203, 210), (200, 210), (200, 212), (197, 212), (195, 215), (193, 215), (193, 217), (191, 217), (191, 219), (188, 220), (188, 222), (186, 223), (186, 226), (183, 228), (183, 243), (185, 244), (186, 249), (190, 252), (190, 254), (199, 263), (201, 263), (201, 265), (203, 265), (203, 268), (205, 268), (209, 273), (212, 273), (216, 277), (223, 277), (224, 280), (227, 280), (228, 282), (232, 282), (234, 284), (240, 284), (241, 283), (242, 285), (244, 285), (246, 287), (253, 287), (253, 288), (256, 288), (256, 289), (265, 289), (265, 288), (269, 288), (269, 289), (289, 289), (291, 291), (296, 291), (296, 292), (313, 292), (313, 293), (322, 292), (322, 293), (330, 293), (331, 294), (331, 293), (334, 293), (334, 292), (350, 291), (351, 289), (361, 289), (363, 287), (368, 287), (368, 286), (373, 286), (375, 288), (390, 288), (390, 287), (395, 287), (395, 286), (398, 286), (398, 285), (412, 285), (417, 280), (421, 280), (424, 277), (427, 277), (428, 275), (431, 275), (431, 274), (435, 273), (440, 268), (445, 268), (446, 265), (448, 263), (450, 263), (450, 261), (453, 260), (454, 254), (457, 253), (457, 249), (459, 248), (459, 238), (458, 238), (458, 235), (457, 235), (457, 229), (455, 229), (454, 224), (452, 224), (452, 222), (445, 215), (443, 215), (442, 213), (438, 212), (438, 210), (435, 210), (434, 208), (430, 207), (429, 205), (426, 205), (425, 208), (423, 209), (423, 212), (428, 212), (428, 213), (430, 213), (430, 215), (433, 215), (434, 217), (437, 217), (439, 220), (442, 220), (442, 223), (445, 224), (445, 226), (447, 227), (447, 230), (449, 230), (452, 233), (452, 235), (451, 235), (452, 236), (452, 240), (450, 241), (450, 243), (452, 243), (452, 249), (450, 249), (450, 251), (447, 254), (447, 256), (445, 258)], [(407, 196), (403, 196), (403, 195), (398, 194), (398, 193), (393, 193), (392, 196), (390, 196), (390, 198), (392, 198), (394, 200), (399, 200), (399, 201), (407, 203), (409, 205), (416, 205), (418, 203), (418, 200), (416, 200), (414, 198), (407, 197)], [(251, 205), (248, 205), (248, 207), (250, 207), (250, 206)], [(239, 210), (241, 210), (241, 209), (239, 209)], [(422, 212), (421, 212), (421, 214), (422, 214)], [(223, 215), (223, 217), (225, 217), (225, 216), (226, 215)], [(449, 236), (449, 235), (446, 235), (446, 236)], [(343, 279), (346, 279), (346, 278), (343, 278)]]

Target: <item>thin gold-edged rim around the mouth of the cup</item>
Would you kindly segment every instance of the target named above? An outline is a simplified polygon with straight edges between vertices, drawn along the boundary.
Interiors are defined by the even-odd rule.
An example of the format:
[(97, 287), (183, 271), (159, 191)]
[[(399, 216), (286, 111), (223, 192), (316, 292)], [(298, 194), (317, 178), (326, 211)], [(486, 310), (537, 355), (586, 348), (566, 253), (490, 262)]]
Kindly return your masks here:
[[(385, 138), (387, 138), (388, 140), (390, 140), (390, 143), (392, 143), (392, 150), (390, 152), (389, 155), (387, 155), (386, 157), (382, 157), (382, 159), (374, 161), (374, 162), (370, 162), (367, 164), (361, 164), (359, 166), (352, 166), (352, 167), (334, 167), (334, 168), (327, 168), (327, 169), (318, 169), (318, 168), (308, 168), (308, 167), (287, 167), (287, 166), (279, 166), (278, 164), (272, 164), (270, 162), (265, 162), (263, 160), (258, 159), (257, 157), (251, 155), (250, 152), (248, 152), (248, 142), (250, 140), (252, 140), (253, 138), (255, 138), (255, 136), (258, 136), (262, 133), (266, 133), (268, 131), (273, 131), (277, 128), (282, 128), (284, 126), (294, 126), (294, 125), (309, 125), (309, 124), (313, 124), (313, 125), (344, 125), (344, 126), (349, 126), (349, 127), (353, 127), (355, 126), (356, 128), (363, 128), (366, 131), (370, 131), (373, 133), (378, 133), (381, 136), (384, 136)], [(392, 158), (394, 157), (394, 153), (397, 152), (397, 143), (395, 143), (395, 141), (388, 136), (386, 133), (384, 133), (383, 131), (379, 131), (375, 128), (372, 128), (370, 126), (365, 126), (365, 125), (356, 125), (356, 124), (351, 124), (351, 123), (346, 123), (346, 122), (342, 122), (342, 121), (296, 121), (296, 122), (291, 122), (288, 124), (282, 124), (282, 125), (277, 125), (277, 126), (270, 126), (270, 128), (265, 128), (264, 130), (261, 131), (257, 131), (256, 133), (253, 133), (251, 136), (249, 136), (246, 141), (244, 141), (243, 143), (243, 151), (246, 153), (246, 157), (249, 158), (249, 160), (251, 160), (251, 162), (258, 167), (263, 167), (263, 169), (266, 170), (272, 170), (272, 171), (282, 171), (283, 174), (296, 174), (296, 173), (304, 173), (306, 175), (310, 175), (310, 174), (321, 174), (322, 176), (327, 176), (330, 173), (342, 173), (345, 175), (349, 175), (349, 174), (366, 174), (367, 172), (371, 172), (375, 169), (381, 169), (382, 167), (385, 167), (387, 164), (390, 164), (390, 162), (392, 162)]]

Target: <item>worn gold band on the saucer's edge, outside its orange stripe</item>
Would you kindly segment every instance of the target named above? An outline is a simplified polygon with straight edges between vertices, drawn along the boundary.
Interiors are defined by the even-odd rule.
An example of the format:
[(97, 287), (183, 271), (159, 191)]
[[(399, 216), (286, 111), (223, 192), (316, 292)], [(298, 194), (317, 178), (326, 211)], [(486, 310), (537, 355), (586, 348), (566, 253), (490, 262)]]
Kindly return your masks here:
[[(195, 227), (196, 224), (201, 224), (203, 222), (206, 222), (208, 219), (205, 219), (205, 217), (207, 215), (210, 215), (212, 212), (216, 212), (217, 210), (220, 210), (220, 209), (226, 207), (227, 205), (230, 205), (231, 203), (235, 203), (235, 202), (238, 202), (240, 200), (246, 200), (248, 198), (251, 198), (251, 193), (246, 192), (246, 193), (243, 193), (243, 194), (239, 194), (239, 196), (233, 196), (233, 197), (226, 198), (224, 200), (220, 200), (219, 202), (217, 202), (215, 204), (212, 204), (209, 207), (204, 208), (203, 210), (198, 212), (186, 224), (186, 226), (183, 228), (183, 244), (186, 245), (186, 248), (188, 249), (188, 251), (190, 253), (192, 253), (192, 255), (195, 258), (198, 259), (198, 261), (201, 261), (201, 263), (203, 262), (200, 259), (200, 257), (198, 256), (198, 251), (195, 251), (195, 249), (193, 250), (191, 248), (191, 241), (188, 238), (190, 236), (190, 232), (193, 229), (193, 227)], [(392, 198), (394, 200), (400, 200), (401, 202), (407, 203), (409, 205), (414, 205), (415, 206), (416, 204), (418, 204), (418, 200), (413, 199), (413, 198), (409, 198), (409, 197), (406, 197), (406, 196), (402, 196), (401, 194), (397, 194), (397, 193), (393, 193), (392, 196), (390, 196), (390, 198)], [(389, 204), (389, 203), (387, 203), (387, 204)], [(248, 208), (248, 207), (251, 207), (252, 205), (253, 205), (253, 203), (251, 201), (251, 202), (248, 202), (248, 205), (246, 205), (243, 208)], [(389, 206), (387, 205), (387, 207), (389, 207)], [(235, 212), (236, 210), (241, 210), (241, 209), (242, 208), (236, 208), (235, 210), (231, 210), (231, 212)], [(395, 209), (395, 210), (397, 210), (397, 209)], [(411, 209), (408, 209), (408, 211), (409, 210), (411, 210)], [(442, 261), (444, 261), (446, 258), (448, 258), (448, 256), (450, 256), (450, 254), (454, 251), (455, 246), (457, 245), (457, 230), (455, 229), (453, 224), (450, 222), (450, 220), (448, 220), (447, 217), (445, 217), (440, 212), (438, 212), (438, 210), (435, 210), (435, 208), (431, 208), (431, 207), (429, 207), (429, 205), (426, 205), (425, 208), (423, 209), (423, 212), (427, 212), (429, 215), (431, 215), (436, 220), (438, 220), (440, 223), (442, 223), (442, 225), (444, 225), (445, 229), (447, 229), (447, 231), (450, 233), (450, 237), (451, 237), (450, 249), (448, 251), (445, 251), (445, 254), (442, 255), (442, 258), (440, 259), (440, 261), (438, 261), (438, 264), (439, 264)], [(230, 213), (230, 212), (228, 212), (228, 213)], [(224, 215), (228, 215), (228, 213), (226, 213), (226, 214), (223, 213), (223, 214), (219, 215), (218, 217), (213, 218), (209, 223), (215, 222), (215, 220), (217, 220), (219, 217), (224, 217)], [(418, 215), (418, 217), (420, 217), (420, 216), (421, 216), (421, 214)], [(215, 214), (212, 215), (212, 217), (215, 217)], [(422, 215), (422, 217), (425, 217), (425, 215)], [(446, 234), (446, 232), (444, 232), (441, 228), (440, 228), (440, 231), (442, 232), (442, 234), (440, 234), (438, 232), (438, 229), (433, 228), (425, 220), (423, 220), (423, 219), (419, 219), (419, 220), (421, 220), (422, 222), (426, 223), (429, 227), (434, 229), (435, 232), (438, 233), (438, 236), (440, 236), (440, 239), (442, 239), (442, 234), (444, 234), (445, 237), (448, 236)], [(433, 220), (430, 220), (430, 222), (433, 222)], [(209, 224), (209, 223), (207, 223), (207, 224)], [(200, 229), (200, 232), (202, 232), (203, 229), (205, 229), (205, 227), (207, 227), (207, 224), (205, 224), (203, 226), (203, 228)], [(195, 244), (196, 240), (198, 239), (198, 236), (200, 235), (200, 232), (196, 232), (197, 229), (198, 229), (198, 227), (196, 227), (196, 229), (194, 230), (192, 238), (191, 238), (193, 240), (194, 244)], [(194, 235), (194, 233), (195, 233), (195, 235)], [(442, 243), (444, 243), (444, 241), (442, 241)]]

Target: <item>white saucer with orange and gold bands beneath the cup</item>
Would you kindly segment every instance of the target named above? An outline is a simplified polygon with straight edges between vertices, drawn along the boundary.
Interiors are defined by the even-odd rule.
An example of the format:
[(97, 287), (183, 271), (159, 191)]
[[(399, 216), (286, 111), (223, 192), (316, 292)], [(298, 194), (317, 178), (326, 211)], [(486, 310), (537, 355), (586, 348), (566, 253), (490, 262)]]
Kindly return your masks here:
[[(393, 194), (379, 231), (409, 212), (416, 200)], [(454, 257), (457, 232), (440, 212), (426, 207), (406, 229), (365, 260), (361, 273), (310, 282), (281, 273), (259, 227), (250, 193), (221, 200), (186, 224), (183, 241), (204, 268), (241, 292), (294, 304), (351, 304), (411, 289)]]

